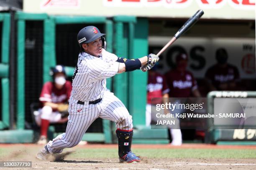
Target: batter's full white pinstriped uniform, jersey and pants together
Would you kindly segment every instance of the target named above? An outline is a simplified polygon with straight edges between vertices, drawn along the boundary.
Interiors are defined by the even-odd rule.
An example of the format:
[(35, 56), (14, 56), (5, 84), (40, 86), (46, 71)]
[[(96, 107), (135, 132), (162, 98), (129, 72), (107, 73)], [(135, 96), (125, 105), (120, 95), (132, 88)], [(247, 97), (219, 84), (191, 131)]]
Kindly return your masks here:
[[(106, 88), (106, 78), (118, 73), (118, 57), (102, 49), (99, 57), (82, 52), (79, 54), (77, 67), (72, 83), (69, 99), (69, 117), (66, 133), (49, 141), (47, 148), (50, 153), (61, 153), (64, 148), (77, 145), (85, 131), (98, 117), (112, 120), (116, 128), (131, 130), (132, 116), (123, 103)], [(102, 98), (97, 104), (90, 104)], [(84, 101), (84, 105), (77, 104)]]

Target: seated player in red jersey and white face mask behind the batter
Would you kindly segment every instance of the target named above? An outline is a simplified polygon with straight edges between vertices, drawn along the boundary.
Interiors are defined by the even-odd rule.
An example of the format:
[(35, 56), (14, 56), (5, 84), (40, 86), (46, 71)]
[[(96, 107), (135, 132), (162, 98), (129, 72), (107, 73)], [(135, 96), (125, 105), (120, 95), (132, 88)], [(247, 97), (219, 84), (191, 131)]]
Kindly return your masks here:
[(52, 82), (46, 82), (42, 88), (39, 101), (41, 109), (35, 116), (36, 123), (40, 126), (38, 144), (47, 143), (47, 130), (49, 123), (67, 122), (68, 101), (72, 91), (72, 84), (66, 80), (66, 73), (62, 65), (51, 68)]

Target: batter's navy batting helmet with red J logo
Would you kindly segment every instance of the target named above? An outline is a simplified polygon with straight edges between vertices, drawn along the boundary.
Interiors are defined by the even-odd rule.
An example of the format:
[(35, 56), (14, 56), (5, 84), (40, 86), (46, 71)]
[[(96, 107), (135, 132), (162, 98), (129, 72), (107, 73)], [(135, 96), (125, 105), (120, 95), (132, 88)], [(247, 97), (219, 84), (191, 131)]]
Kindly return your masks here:
[[(82, 44), (97, 40), (99, 37), (102, 37), (103, 35), (105, 34), (100, 33), (100, 30), (97, 27), (87, 26), (78, 32), (77, 41), (79, 46), (82, 47)], [(102, 42), (105, 42), (104, 37), (102, 37)]]

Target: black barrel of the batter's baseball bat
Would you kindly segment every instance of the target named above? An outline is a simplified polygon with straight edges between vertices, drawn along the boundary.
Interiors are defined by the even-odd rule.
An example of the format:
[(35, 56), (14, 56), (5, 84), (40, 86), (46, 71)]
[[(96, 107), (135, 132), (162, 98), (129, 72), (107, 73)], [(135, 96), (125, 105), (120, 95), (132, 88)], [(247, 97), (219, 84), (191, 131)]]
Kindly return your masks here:
[(178, 39), (184, 32), (186, 32), (192, 25), (194, 25), (204, 14), (203, 10), (198, 10), (187, 22), (179, 29), (179, 31), (174, 35)]

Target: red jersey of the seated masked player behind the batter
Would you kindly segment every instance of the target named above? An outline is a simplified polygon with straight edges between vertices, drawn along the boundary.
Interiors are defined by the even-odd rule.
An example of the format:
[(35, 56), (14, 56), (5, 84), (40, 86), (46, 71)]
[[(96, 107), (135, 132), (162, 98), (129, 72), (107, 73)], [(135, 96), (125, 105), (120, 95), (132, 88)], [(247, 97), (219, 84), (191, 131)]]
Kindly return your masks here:
[(68, 102), (72, 90), (70, 81), (66, 81), (59, 90), (54, 86), (54, 82), (46, 82), (39, 97), (40, 102), (64, 103)]

